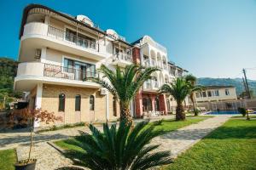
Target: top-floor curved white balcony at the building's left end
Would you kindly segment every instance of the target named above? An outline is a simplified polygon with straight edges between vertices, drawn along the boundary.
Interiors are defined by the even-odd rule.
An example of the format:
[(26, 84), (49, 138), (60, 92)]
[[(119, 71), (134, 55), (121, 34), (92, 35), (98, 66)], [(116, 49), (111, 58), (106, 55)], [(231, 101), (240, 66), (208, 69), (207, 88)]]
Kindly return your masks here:
[(79, 35), (73, 36), (68, 31), (62, 31), (40, 22), (26, 24), (21, 41), (21, 45), (28, 47), (32, 44), (38, 44), (69, 54), (84, 56), (88, 59), (101, 60), (106, 58), (106, 47), (98, 42), (90, 41)]

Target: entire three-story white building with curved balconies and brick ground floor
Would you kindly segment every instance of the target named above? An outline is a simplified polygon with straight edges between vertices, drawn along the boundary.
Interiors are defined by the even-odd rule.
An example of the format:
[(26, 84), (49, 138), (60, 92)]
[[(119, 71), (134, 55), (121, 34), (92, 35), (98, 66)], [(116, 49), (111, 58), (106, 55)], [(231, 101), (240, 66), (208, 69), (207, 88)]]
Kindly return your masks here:
[(112, 29), (102, 31), (84, 15), (73, 17), (31, 4), (24, 9), (20, 26), (15, 90), (27, 92), (29, 107), (62, 116), (61, 123), (113, 120), (119, 118), (119, 104), (89, 77), (101, 77), (96, 69), (102, 64), (114, 69), (135, 62), (161, 70), (131, 102), (132, 116), (142, 116), (143, 111), (166, 114), (172, 98), (157, 89), (183, 74), (182, 68), (168, 62), (166, 51), (148, 36), (131, 44)]

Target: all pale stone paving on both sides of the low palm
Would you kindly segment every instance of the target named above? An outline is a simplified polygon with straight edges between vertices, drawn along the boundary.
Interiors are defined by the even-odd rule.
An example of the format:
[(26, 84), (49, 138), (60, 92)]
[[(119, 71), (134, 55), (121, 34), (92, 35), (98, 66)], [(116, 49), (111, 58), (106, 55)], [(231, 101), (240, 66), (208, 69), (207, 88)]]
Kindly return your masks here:
[[(159, 150), (171, 150), (172, 158), (175, 158), (201, 138), (205, 137), (207, 133), (221, 126), (229, 117), (215, 116), (205, 121), (189, 125), (188, 127), (180, 128), (177, 131), (166, 133), (153, 139), (152, 144), (160, 144)], [(102, 126), (98, 126), (98, 128), (101, 129)], [(32, 158), (38, 159), (36, 170), (54, 170), (58, 167), (71, 165), (73, 162), (61, 155), (47, 141), (68, 139), (78, 135), (79, 131), (88, 132), (89, 129), (88, 127), (73, 127), (45, 133), (34, 133), (35, 145), (32, 147)], [(24, 129), (10, 133), (0, 133), (0, 150), (16, 148), (18, 160), (26, 159), (29, 150), (29, 139), (29, 133)]]

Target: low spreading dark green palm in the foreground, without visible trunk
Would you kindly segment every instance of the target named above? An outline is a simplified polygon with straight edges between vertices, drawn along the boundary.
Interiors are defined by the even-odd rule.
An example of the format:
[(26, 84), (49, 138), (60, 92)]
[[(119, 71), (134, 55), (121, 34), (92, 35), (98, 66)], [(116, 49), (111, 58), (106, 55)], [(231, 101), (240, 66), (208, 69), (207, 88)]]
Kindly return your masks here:
[(135, 127), (120, 122), (119, 128), (105, 123), (101, 132), (90, 124), (91, 134), (82, 133), (67, 143), (84, 150), (79, 163), (92, 170), (143, 170), (170, 164), (170, 151), (155, 151), (159, 144), (149, 144), (161, 134), (154, 127), (148, 122), (140, 122)]

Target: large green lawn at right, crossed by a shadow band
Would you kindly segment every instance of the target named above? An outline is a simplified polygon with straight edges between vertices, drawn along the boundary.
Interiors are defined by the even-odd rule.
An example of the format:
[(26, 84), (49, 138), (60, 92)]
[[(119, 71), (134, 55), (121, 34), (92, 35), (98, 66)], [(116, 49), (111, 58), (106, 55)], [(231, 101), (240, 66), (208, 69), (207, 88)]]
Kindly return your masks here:
[(231, 119), (162, 169), (256, 169), (256, 120)]

